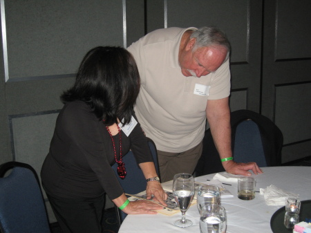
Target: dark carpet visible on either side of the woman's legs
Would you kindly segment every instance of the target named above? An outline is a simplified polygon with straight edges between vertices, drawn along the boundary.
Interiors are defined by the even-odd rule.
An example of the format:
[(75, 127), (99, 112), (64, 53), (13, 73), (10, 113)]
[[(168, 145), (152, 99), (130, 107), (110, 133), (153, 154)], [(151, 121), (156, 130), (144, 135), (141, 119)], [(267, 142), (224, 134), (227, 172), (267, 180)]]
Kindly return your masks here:
[[(102, 233), (117, 233), (119, 231), (119, 225), (117, 223), (117, 216), (115, 215), (114, 208), (105, 209), (103, 225), (104, 231)], [(62, 233), (58, 223), (51, 223), (50, 228), (51, 233)]]

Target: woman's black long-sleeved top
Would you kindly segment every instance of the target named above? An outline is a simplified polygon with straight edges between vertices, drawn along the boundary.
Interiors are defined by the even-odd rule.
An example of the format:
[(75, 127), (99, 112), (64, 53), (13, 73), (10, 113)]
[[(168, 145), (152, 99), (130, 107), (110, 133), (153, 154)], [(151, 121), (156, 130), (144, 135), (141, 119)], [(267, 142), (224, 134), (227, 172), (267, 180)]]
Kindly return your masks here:
[[(119, 134), (113, 139), (119, 159)], [(129, 149), (138, 164), (153, 162), (140, 124), (129, 137), (122, 131), (122, 155)], [(123, 189), (111, 168), (114, 163), (113, 143), (104, 123), (85, 102), (66, 103), (57, 117), (50, 151), (41, 169), (46, 193), (62, 198), (93, 198), (106, 193), (115, 199)]]

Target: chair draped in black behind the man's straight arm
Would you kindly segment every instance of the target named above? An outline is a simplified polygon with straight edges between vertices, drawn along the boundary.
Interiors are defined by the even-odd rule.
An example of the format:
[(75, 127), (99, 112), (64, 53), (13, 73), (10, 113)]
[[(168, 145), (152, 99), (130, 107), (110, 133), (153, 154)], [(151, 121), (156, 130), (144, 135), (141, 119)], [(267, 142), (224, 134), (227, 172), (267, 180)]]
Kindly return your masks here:
[[(232, 151), (236, 162), (257, 162), (259, 167), (281, 165), (283, 134), (269, 118), (242, 109), (231, 113)], [(225, 171), (210, 129), (205, 131), (196, 176)]]

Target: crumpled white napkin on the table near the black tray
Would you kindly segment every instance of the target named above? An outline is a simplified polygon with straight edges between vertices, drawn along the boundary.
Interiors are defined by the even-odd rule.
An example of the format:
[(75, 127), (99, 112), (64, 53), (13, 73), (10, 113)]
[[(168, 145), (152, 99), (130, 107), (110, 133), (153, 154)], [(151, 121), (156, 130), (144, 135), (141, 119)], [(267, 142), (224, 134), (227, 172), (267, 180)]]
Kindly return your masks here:
[(266, 189), (260, 189), (260, 192), (265, 197), (265, 203), (267, 205), (285, 205), (285, 198), (289, 196), (299, 196), (299, 194), (284, 191), (274, 185), (267, 186)]

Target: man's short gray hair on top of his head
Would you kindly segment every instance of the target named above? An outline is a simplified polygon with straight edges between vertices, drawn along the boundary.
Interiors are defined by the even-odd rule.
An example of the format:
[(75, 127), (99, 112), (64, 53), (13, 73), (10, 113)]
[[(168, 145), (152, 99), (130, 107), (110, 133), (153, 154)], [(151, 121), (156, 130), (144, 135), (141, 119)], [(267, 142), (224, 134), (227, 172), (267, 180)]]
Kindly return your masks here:
[(194, 44), (193, 51), (200, 47), (223, 46), (227, 49), (229, 55), (230, 43), (225, 32), (214, 26), (198, 28), (198, 30), (192, 32), (190, 39), (191, 38), (196, 38), (196, 44)]

